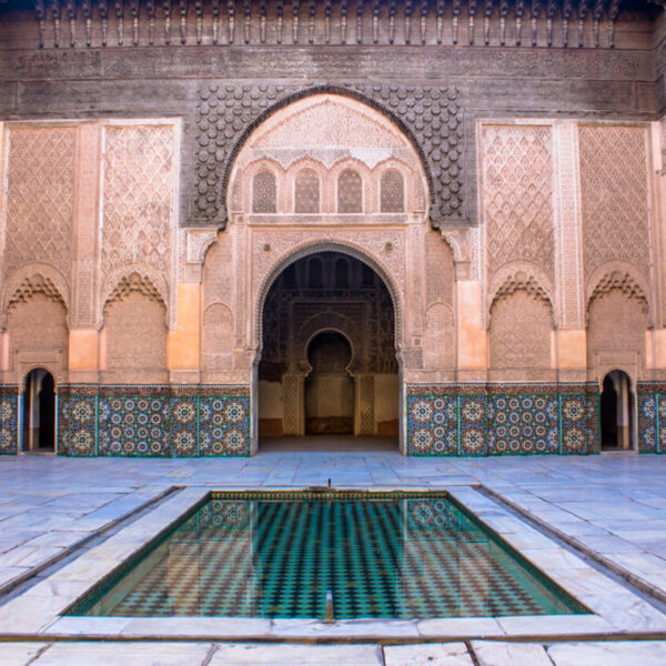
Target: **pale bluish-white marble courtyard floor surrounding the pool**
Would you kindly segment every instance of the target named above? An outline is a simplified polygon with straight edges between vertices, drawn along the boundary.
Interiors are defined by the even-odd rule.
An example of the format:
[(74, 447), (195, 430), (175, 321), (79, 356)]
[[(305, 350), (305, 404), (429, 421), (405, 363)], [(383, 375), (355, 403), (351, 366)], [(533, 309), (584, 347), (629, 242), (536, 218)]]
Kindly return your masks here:
[[(226, 460), (0, 458), (0, 664), (666, 664), (666, 456), (406, 458), (374, 444), (336, 451), (329, 441), (312, 451), (269, 442), (252, 458)], [(58, 618), (67, 595), (75, 598), (138, 547), (145, 529), (208, 490), (297, 488), (329, 478), (337, 487), (448, 490), (567, 579), (594, 605), (587, 619), (596, 619), (579, 632), (515, 618), (337, 634), (314, 625), (258, 629), (270, 634), (262, 640), (280, 642), (270, 645), (229, 626), (223, 640), (218, 625), (192, 622), (188, 632), (182, 619), (175, 639), (155, 642), (171, 632), (103, 623), (91, 629)], [(568, 537), (583, 559), (543, 529)], [(608, 567), (613, 581), (605, 582)]]

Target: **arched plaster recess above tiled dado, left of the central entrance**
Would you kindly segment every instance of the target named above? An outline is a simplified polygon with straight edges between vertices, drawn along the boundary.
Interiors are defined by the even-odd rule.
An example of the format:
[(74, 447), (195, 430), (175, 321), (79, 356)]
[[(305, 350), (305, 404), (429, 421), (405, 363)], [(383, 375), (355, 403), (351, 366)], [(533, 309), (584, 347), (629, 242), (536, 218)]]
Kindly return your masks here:
[(167, 306), (152, 281), (137, 272), (123, 278), (104, 303), (104, 380), (165, 382), (167, 333)]

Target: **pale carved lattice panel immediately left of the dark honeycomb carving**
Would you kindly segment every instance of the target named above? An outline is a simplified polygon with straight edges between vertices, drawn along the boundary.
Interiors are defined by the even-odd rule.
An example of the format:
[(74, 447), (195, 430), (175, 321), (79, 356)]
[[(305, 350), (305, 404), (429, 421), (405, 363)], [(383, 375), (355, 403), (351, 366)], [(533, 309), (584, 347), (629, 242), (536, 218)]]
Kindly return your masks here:
[(168, 274), (173, 190), (173, 128), (104, 130), (104, 272), (142, 261)]

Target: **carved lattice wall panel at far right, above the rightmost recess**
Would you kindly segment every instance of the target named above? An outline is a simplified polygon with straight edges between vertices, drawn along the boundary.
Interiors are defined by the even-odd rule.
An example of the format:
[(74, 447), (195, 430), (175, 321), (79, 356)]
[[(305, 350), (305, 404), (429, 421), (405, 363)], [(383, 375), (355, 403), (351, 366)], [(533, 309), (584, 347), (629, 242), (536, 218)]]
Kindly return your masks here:
[(581, 127), (585, 275), (624, 259), (648, 271), (647, 130)]

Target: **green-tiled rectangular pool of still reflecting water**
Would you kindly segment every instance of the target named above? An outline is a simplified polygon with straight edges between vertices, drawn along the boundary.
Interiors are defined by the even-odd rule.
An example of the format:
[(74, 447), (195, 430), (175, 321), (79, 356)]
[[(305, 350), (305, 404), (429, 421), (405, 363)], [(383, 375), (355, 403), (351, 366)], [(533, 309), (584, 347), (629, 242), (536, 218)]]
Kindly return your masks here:
[(214, 494), (69, 615), (586, 613), (445, 495)]

